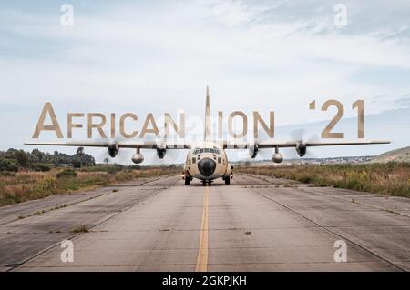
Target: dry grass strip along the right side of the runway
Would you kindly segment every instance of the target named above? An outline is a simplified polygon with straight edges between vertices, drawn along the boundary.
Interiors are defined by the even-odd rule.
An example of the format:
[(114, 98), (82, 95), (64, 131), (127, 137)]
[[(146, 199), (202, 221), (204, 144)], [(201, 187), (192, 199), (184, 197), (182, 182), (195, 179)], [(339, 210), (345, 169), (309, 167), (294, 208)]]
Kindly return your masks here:
[(242, 173), (288, 178), (374, 194), (410, 197), (410, 164), (292, 165), (236, 167)]

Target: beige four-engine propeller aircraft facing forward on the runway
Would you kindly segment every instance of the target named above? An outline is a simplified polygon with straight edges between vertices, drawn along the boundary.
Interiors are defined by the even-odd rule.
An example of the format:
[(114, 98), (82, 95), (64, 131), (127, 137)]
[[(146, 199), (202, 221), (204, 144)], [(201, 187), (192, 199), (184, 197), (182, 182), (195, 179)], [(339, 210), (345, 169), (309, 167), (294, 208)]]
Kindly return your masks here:
[(275, 152), (272, 155), (272, 161), (276, 164), (282, 162), (283, 157), (279, 153), (279, 148), (294, 147), (299, 156), (306, 154), (306, 149), (309, 146), (327, 146), (327, 145), (371, 145), (371, 144), (389, 144), (390, 141), (384, 140), (361, 140), (353, 142), (323, 142), (323, 141), (307, 141), (292, 140), (292, 141), (275, 141), (268, 139), (266, 141), (255, 141), (252, 143), (233, 143), (227, 141), (213, 141), (210, 138), (210, 92), (207, 87), (206, 106), (205, 106), (205, 130), (203, 142), (177, 144), (168, 141), (93, 141), (93, 142), (67, 142), (67, 143), (25, 143), (25, 145), (54, 145), (54, 146), (88, 146), (88, 147), (107, 147), (108, 154), (115, 157), (120, 148), (134, 148), (137, 152), (132, 155), (132, 162), (140, 164), (144, 161), (144, 155), (140, 153), (140, 149), (157, 150), (157, 155), (163, 159), (167, 150), (189, 149), (187, 159), (184, 164), (182, 178), (185, 180), (185, 185), (190, 185), (194, 179), (200, 179), (202, 185), (211, 185), (212, 181), (217, 178), (222, 178), (226, 185), (231, 183), (233, 177), (230, 162), (225, 152), (226, 149), (248, 149), (251, 158), (258, 155), (258, 151), (264, 148), (274, 148)]

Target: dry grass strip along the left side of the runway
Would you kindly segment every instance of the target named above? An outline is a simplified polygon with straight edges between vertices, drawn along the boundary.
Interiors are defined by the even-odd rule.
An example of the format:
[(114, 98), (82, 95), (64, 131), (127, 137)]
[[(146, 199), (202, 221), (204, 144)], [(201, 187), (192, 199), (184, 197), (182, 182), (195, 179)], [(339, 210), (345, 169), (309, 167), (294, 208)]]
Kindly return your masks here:
[(180, 174), (179, 167), (147, 167), (118, 172), (77, 171), (76, 177), (57, 178), (61, 169), (49, 172), (18, 172), (15, 175), (0, 175), (0, 206), (13, 205), (50, 195), (62, 195), (78, 190), (126, 182), (132, 179), (159, 175)]

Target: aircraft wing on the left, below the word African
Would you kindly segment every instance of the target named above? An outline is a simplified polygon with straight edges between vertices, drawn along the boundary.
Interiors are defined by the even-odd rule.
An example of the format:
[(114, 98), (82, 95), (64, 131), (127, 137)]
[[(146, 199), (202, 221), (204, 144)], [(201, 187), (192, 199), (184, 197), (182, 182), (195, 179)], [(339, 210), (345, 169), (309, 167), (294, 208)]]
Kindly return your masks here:
[(156, 142), (156, 141), (89, 141), (89, 142), (35, 142), (25, 143), (25, 145), (46, 145), (46, 146), (75, 146), (75, 147), (108, 147), (117, 143), (119, 148), (142, 148), (157, 149), (159, 144), (164, 144), (167, 149), (190, 149), (190, 144), (175, 142)]

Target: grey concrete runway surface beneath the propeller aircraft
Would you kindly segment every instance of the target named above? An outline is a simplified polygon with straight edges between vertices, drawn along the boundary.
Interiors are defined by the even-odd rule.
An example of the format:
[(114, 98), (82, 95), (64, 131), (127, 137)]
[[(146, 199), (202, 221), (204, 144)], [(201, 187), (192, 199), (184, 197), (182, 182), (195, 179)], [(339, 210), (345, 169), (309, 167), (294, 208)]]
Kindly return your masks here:
[[(60, 259), (65, 239), (74, 262)], [(347, 262), (334, 261), (338, 240)], [(408, 271), (410, 199), (256, 175), (150, 178), (0, 208), (0, 270)]]

